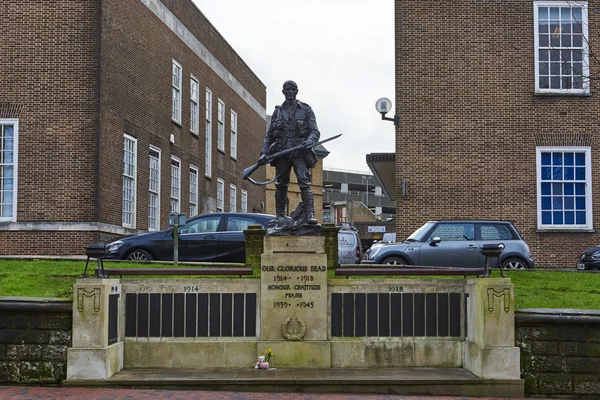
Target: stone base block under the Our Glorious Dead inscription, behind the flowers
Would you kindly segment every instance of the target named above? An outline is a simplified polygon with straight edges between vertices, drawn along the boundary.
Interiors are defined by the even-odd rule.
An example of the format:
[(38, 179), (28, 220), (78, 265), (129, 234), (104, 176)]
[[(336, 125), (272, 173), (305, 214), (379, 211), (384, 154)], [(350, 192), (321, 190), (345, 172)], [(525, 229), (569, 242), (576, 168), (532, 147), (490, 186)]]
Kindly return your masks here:
[(331, 368), (331, 342), (329, 341), (260, 341), (257, 356), (273, 350), (272, 368)]

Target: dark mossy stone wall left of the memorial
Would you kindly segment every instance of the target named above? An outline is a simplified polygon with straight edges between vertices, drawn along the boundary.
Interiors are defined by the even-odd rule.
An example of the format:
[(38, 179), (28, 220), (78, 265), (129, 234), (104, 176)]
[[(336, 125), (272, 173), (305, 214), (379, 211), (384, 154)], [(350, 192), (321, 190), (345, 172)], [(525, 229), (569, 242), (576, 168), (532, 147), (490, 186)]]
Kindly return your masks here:
[(72, 301), (0, 297), (0, 384), (66, 378)]

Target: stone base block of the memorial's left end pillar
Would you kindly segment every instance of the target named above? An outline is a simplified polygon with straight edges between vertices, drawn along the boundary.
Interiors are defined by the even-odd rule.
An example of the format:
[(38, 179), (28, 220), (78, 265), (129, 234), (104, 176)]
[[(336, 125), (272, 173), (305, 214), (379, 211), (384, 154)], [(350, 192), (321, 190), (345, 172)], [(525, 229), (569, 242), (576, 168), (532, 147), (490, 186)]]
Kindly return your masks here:
[(67, 379), (108, 379), (123, 369), (123, 343), (103, 348), (68, 348)]

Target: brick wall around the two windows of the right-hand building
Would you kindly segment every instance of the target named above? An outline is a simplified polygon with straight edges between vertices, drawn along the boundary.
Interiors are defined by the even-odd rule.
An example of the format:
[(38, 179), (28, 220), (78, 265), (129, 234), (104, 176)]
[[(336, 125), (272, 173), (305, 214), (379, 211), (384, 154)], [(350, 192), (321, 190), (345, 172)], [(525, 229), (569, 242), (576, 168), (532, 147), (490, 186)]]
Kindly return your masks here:
[[(600, 237), (538, 231), (536, 146), (591, 146), (597, 181), (597, 95), (535, 95), (531, 1), (395, 4), (396, 182), (409, 187), (396, 202), (399, 235), (430, 219), (508, 219), (538, 267), (573, 267)], [(598, 5), (589, 9), (589, 26), (597, 27)], [(591, 43), (598, 33), (590, 28)], [(599, 199), (600, 185), (592, 191)]]

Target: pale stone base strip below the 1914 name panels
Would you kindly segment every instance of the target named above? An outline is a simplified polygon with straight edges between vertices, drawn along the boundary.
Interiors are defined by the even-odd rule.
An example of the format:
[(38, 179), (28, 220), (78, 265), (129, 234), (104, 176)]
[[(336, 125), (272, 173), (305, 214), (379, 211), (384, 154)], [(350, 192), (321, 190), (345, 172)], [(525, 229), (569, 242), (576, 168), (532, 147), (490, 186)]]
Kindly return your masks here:
[(253, 368), (256, 341), (125, 342), (125, 368)]

